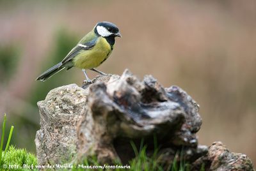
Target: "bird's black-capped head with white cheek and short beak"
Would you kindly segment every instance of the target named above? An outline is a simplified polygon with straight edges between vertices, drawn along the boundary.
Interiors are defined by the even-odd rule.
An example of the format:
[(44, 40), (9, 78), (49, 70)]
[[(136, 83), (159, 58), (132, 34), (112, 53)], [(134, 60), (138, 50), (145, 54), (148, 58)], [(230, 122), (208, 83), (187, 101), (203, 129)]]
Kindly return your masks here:
[(121, 37), (119, 33), (118, 27), (111, 22), (98, 22), (94, 27), (95, 34), (102, 36), (102, 37)]

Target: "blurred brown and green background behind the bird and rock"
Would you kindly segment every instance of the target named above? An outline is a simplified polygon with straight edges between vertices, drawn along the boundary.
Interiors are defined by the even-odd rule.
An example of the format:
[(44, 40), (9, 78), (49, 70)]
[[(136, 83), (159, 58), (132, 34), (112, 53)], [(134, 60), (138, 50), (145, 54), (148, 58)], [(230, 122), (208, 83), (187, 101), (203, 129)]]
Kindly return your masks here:
[[(0, 119), (12, 144), (35, 153), (36, 102), (54, 87), (81, 85), (83, 72), (36, 82), (99, 21), (115, 23), (111, 57), (99, 67), (164, 87), (179, 85), (199, 104), (199, 142), (221, 141), (256, 163), (256, 1), (0, 1)], [(90, 78), (95, 73), (88, 71)]]

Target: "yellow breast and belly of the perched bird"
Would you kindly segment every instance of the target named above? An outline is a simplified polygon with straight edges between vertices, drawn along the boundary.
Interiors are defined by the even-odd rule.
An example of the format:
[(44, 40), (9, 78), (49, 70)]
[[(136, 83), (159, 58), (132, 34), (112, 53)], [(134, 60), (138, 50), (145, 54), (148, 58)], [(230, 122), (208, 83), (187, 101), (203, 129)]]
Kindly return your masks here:
[(81, 69), (96, 68), (108, 58), (111, 51), (108, 41), (100, 37), (92, 49), (81, 50), (81, 52), (74, 57), (74, 66)]

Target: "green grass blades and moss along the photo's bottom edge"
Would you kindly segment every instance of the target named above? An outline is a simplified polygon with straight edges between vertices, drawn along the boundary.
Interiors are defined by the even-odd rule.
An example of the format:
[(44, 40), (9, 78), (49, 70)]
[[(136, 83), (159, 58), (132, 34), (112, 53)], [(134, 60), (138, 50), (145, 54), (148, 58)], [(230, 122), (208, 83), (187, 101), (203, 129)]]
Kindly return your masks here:
[[(1, 145), (0, 145), (0, 170), (38, 170), (35, 168), (37, 165), (37, 160), (34, 154), (26, 151), (26, 149), (15, 149), (13, 145), (9, 147), (10, 140), (12, 138), (13, 126), (10, 129), (8, 140), (6, 142), (5, 149), (3, 151), (4, 144), (4, 131), (6, 127), (6, 114), (4, 114), (4, 120), (2, 125), (2, 135), (1, 135)], [(173, 159), (172, 165), (161, 165), (159, 159), (159, 148), (157, 147), (157, 140), (154, 137), (154, 154), (152, 156), (147, 155), (147, 145), (143, 144), (143, 139), (141, 140), (140, 148), (137, 149), (134, 142), (131, 142), (132, 149), (135, 154), (135, 158), (129, 162), (129, 165), (123, 165), (121, 161), (115, 161), (113, 165), (106, 165), (103, 167), (98, 161), (97, 157), (88, 158), (83, 161), (82, 164), (73, 165), (73, 169), (57, 169), (57, 170), (128, 170), (121, 167), (129, 166), (129, 170), (145, 170), (145, 171), (154, 171), (154, 170), (170, 170), (170, 171), (189, 171), (189, 164), (184, 160), (184, 149), (177, 151)], [(179, 158), (179, 162), (177, 159)], [(24, 168), (26, 165), (26, 168)], [(76, 166), (76, 167), (75, 167)], [(96, 166), (98, 168), (86, 168), (89, 166)], [(108, 168), (108, 167), (115, 168)], [(54, 166), (55, 167), (55, 166)], [(204, 166), (200, 170), (204, 170)]]

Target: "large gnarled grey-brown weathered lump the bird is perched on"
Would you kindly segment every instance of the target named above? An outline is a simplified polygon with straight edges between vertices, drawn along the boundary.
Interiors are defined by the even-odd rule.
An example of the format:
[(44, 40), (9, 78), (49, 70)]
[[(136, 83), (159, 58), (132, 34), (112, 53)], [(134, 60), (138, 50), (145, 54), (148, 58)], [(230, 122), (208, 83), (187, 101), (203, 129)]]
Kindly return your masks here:
[(179, 87), (163, 88), (150, 75), (140, 81), (128, 70), (121, 77), (96, 77), (82, 87), (58, 87), (38, 102), (39, 164), (74, 163), (93, 156), (99, 163), (127, 163), (134, 157), (131, 142), (139, 147), (141, 140), (148, 155), (157, 144), (159, 162), (166, 165), (181, 149), (189, 163), (207, 154), (196, 137), (202, 124), (199, 106)]

